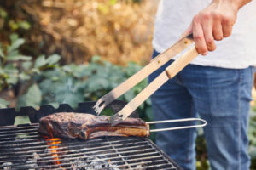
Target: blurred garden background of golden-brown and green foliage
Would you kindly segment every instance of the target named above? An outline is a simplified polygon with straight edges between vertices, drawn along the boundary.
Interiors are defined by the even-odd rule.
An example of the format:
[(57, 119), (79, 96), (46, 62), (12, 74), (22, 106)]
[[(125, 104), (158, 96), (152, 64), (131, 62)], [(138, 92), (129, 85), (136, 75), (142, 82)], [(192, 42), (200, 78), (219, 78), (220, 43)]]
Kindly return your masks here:
[[(76, 107), (108, 93), (148, 63), (158, 2), (0, 0), (0, 108)], [(130, 101), (147, 83), (120, 99)], [(256, 169), (254, 101), (248, 132), (251, 169)], [(150, 100), (137, 111), (152, 120)], [(201, 129), (196, 142), (197, 167), (207, 170)]]

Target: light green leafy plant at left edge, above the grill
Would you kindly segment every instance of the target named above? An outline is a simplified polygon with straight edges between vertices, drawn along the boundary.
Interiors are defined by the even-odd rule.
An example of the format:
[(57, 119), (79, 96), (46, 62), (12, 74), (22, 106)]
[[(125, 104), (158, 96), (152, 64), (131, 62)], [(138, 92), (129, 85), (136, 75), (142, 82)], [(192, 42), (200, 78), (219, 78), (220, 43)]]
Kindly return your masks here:
[[(32, 105), (37, 108), (42, 101), (41, 90), (37, 85), (38, 77), (42, 71), (57, 67), (61, 57), (54, 54), (45, 59), (42, 55), (32, 61), (32, 57), (19, 52), (19, 48), (25, 43), (25, 40), (16, 34), (11, 34), (9, 38), (9, 45), (0, 44), (0, 92), (13, 89), (20, 83), (26, 89), (25, 92), (20, 93), (19, 91), (17, 107)], [(0, 99), (0, 107), (7, 105), (9, 105), (8, 101)]]

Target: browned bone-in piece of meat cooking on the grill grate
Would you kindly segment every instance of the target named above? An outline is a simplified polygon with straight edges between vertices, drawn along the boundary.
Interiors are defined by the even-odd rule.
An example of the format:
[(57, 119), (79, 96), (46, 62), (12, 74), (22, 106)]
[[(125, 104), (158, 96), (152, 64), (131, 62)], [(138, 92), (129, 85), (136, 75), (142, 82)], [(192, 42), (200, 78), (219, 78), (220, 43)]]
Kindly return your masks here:
[(51, 138), (93, 139), (101, 136), (148, 137), (149, 126), (139, 118), (127, 118), (112, 127), (108, 116), (60, 112), (44, 116), (39, 121), (38, 132)]

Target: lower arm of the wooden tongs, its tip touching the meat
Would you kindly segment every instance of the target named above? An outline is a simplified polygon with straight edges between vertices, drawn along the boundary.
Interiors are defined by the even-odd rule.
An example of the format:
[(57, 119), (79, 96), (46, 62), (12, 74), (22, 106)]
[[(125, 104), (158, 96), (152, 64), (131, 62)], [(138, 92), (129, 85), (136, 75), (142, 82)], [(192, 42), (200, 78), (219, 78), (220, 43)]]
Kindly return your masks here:
[(119, 122), (124, 121), (128, 116), (130, 116), (132, 111), (135, 111), (139, 105), (148, 99), (151, 94), (154, 94), (154, 92), (165, 82), (167, 82), (172, 77), (175, 77), (177, 73), (181, 71), (186, 65), (189, 65), (189, 63), (195, 59), (197, 55), (198, 53), (194, 44), (181, 57), (173, 61), (173, 63), (166, 68), (166, 71), (163, 71), (158, 77), (154, 79), (153, 82), (150, 82), (141, 93), (137, 94), (135, 98), (131, 99), (131, 101), (125, 105), (121, 111), (111, 116), (110, 122), (112, 126), (119, 124)]

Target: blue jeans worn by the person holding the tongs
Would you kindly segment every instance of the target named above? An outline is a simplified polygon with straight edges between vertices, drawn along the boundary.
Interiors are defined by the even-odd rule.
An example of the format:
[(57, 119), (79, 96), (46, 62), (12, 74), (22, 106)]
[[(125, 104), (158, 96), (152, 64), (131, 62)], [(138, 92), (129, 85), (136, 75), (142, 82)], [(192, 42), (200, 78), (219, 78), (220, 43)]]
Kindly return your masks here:
[[(156, 55), (154, 51), (153, 57)], [(154, 71), (149, 82), (171, 63)], [(152, 95), (154, 120), (200, 116), (208, 122), (204, 133), (211, 169), (247, 170), (250, 166), (247, 127), (253, 71), (253, 67), (224, 69), (188, 65)], [(170, 125), (156, 125), (156, 128), (162, 127)], [(167, 131), (157, 133), (156, 144), (181, 167), (194, 170), (195, 138), (195, 128)]]

